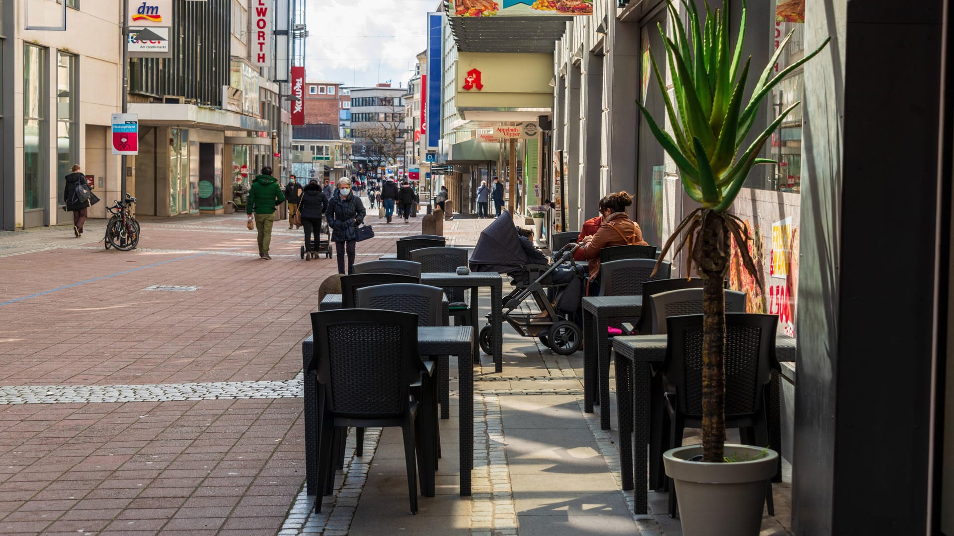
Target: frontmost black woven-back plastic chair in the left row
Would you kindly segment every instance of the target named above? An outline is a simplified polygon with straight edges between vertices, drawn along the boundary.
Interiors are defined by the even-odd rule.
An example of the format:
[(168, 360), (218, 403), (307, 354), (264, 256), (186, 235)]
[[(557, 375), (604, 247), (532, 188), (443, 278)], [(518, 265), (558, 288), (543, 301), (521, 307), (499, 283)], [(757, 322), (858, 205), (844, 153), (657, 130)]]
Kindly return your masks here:
[[(420, 440), (417, 420), (422, 401), (410, 396), (425, 367), (418, 356), (417, 317), (410, 313), (342, 309), (311, 314), (315, 358), (306, 371), (315, 374), (324, 390), (319, 433), (319, 485), (327, 494), (333, 484), (335, 428), (400, 426), (404, 433), (404, 462), (411, 512), (417, 513), (417, 467)], [(422, 465), (433, 455), (422, 444)], [(425, 472), (423, 471), (423, 472)], [(423, 476), (423, 475), (422, 475)], [(423, 476), (424, 478), (424, 476)], [(321, 512), (321, 500), (315, 502)]]

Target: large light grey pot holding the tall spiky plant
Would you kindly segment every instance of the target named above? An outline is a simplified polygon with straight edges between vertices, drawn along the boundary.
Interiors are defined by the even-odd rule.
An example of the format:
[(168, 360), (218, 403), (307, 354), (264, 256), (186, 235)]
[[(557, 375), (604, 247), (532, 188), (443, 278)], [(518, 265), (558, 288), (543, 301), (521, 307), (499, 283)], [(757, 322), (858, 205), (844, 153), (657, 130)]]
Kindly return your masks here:
[(685, 536), (757, 536), (762, 524), (767, 482), (776, 474), (778, 453), (760, 446), (726, 444), (727, 457), (748, 462), (706, 464), (688, 462), (702, 454), (694, 444), (663, 454), (666, 475), (675, 482), (679, 521)]

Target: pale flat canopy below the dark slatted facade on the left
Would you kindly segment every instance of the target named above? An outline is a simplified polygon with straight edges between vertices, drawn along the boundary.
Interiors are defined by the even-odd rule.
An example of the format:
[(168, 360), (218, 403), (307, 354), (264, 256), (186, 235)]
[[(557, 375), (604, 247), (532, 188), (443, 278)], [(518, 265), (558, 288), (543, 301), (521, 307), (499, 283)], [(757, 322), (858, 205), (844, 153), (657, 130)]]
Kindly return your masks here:
[(258, 117), (194, 104), (131, 102), (129, 113), (138, 114), (140, 125), (194, 127), (216, 131), (266, 132), (270, 130), (268, 122)]

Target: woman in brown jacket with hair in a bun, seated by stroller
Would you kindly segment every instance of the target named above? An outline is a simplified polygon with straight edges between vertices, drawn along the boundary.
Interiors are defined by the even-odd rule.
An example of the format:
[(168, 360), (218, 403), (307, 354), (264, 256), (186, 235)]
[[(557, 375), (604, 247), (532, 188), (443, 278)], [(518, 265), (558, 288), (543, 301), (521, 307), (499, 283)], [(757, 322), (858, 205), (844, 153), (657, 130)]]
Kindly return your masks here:
[(639, 225), (630, 219), (626, 207), (633, 204), (633, 197), (626, 192), (610, 194), (599, 201), (600, 224), (596, 234), (583, 238), (580, 249), (583, 258), (590, 261), (590, 278), (588, 279), (587, 295), (594, 296), (598, 287), (593, 284), (599, 276), (599, 253), (603, 248), (623, 245), (648, 245), (643, 241), (643, 232)]

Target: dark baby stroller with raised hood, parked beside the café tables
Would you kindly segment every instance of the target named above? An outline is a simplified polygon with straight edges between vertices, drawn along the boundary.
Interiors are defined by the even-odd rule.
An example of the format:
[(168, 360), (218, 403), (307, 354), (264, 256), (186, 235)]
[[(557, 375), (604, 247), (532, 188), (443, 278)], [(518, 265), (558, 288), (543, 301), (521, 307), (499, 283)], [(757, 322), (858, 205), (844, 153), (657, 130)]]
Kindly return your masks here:
[[(553, 352), (569, 356), (583, 343), (583, 330), (571, 320), (582, 299), (583, 275), (573, 261), (573, 252), (579, 246), (570, 243), (554, 252), (550, 266), (531, 264), (512, 221), (505, 213), (487, 226), (470, 257), (470, 269), (500, 272), (513, 278), (514, 289), (503, 299), (504, 320), (521, 337), (536, 337)], [(562, 282), (555, 282), (557, 270), (567, 264), (572, 277), (567, 281), (567, 273), (561, 272), (558, 279)], [(530, 297), (539, 312), (519, 311)], [(486, 354), (492, 352), (490, 333), (489, 324), (480, 331), (480, 347)]]

